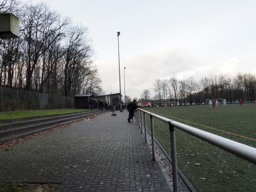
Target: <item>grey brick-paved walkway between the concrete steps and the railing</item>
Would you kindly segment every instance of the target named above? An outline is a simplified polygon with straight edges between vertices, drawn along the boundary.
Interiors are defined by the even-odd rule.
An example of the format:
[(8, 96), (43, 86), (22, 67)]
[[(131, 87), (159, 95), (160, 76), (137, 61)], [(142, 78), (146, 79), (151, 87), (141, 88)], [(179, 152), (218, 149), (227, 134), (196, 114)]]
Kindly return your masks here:
[(57, 191), (171, 191), (128, 113), (105, 113), (0, 150), (0, 182), (61, 183)]

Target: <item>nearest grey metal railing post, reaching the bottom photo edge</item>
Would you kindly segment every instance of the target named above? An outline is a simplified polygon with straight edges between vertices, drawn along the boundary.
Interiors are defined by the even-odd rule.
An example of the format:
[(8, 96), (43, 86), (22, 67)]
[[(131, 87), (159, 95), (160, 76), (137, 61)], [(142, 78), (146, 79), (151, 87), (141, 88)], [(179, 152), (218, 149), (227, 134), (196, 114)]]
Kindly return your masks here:
[(170, 130), (170, 143), (171, 143), (171, 155), (172, 155), (172, 181), (173, 191), (178, 192), (178, 173), (177, 173), (177, 157), (176, 157), (176, 142), (175, 142), (175, 128), (169, 124)]

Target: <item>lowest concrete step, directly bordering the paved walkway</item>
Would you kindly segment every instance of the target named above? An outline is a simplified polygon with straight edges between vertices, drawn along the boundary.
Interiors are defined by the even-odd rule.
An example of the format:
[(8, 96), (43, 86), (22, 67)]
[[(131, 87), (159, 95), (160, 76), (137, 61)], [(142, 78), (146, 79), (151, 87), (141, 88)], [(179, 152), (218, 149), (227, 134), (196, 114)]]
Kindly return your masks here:
[(75, 115), (68, 115), (68, 116), (63, 116), (63, 118), (47, 118), (44, 119), (44, 121), (39, 121), (36, 120), (34, 124), (31, 124), (29, 122), (29, 125), (25, 125), (24, 123), (21, 123), (22, 126), (20, 127), (14, 127), (11, 129), (5, 129), (0, 131), (0, 143), (7, 142), (9, 140), (13, 140), (18, 137), (23, 137), (29, 134), (34, 134), (36, 132), (44, 131), (49, 128), (54, 128), (58, 125), (64, 125), (70, 122), (74, 122), (78, 119), (84, 118), (86, 116), (91, 116), (91, 115), (96, 115), (100, 113), (105, 113), (108, 111), (96, 111), (96, 112), (91, 112), (91, 113), (82, 113), (82, 114), (75, 114)]

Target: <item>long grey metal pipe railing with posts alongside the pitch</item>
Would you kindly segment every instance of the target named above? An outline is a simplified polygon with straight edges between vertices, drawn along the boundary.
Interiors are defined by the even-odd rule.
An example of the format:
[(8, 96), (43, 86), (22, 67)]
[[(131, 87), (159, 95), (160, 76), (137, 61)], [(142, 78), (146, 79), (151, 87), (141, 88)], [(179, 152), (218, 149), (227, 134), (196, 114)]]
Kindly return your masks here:
[[(140, 113), (139, 113), (140, 111)], [(175, 142), (175, 128), (180, 129), (182, 131), (185, 131), (188, 134), (191, 134), (195, 137), (200, 138), (201, 140), (204, 140), (212, 145), (217, 146), (218, 148), (221, 148), (225, 151), (228, 151), (232, 154), (235, 154), (238, 157), (241, 157), (242, 159), (245, 159), (251, 163), (256, 164), (256, 148), (250, 147), (248, 145), (244, 145), (241, 143), (238, 143), (233, 140), (226, 139), (224, 137), (220, 137), (215, 134), (208, 133), (207, 131), (202, 131), (198, 128), (191, 127), (189, 125), (185, 125), (179, 122), (176, 122), (172, 119), (168, 119), (163, 116), (159, 116), (157, 114), (145, 111), (143, 109), (137, 108), (136, 110), (136, 119), (137, 123), (139, 124), (139, 127), (141, 128), (141, 133), (143, 133), (142, 129), (142, 115), (143, 112), (143, 124), (144, 124), (144, 133), (145, 133), (145, 142), (147, 142), (146, 139), (146, 119), (145, 114), (147, 113), (150, 115), (150, 125), (151, 125), (151, 141), (152, 141), (152, 158), (153, 160), (156, 159), (155, 153), (154, 153), (154, 122), (153, 118), (157, 118), (160, 121), (163, 121), (167, 124), (169, 124), (169, 131), (170, 131), (170, 143), (171, 143), (171, 158), (172, 158), (172, 180), (173, 180), (173, 191), (178, 191), (178, 174), (177, 174), (177, 157), (176, 157), (176, 142)]]

